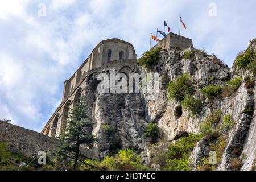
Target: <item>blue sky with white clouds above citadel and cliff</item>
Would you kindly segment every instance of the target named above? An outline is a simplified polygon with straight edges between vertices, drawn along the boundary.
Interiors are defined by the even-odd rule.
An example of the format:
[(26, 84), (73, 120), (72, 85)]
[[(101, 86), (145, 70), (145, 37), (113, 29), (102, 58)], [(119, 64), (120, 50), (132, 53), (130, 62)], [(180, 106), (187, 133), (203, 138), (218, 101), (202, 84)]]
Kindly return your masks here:
[(255, 7), (254, 0), (1, 1), (0, 119), (40, 132), (61, 102), (63, 82), (101, 40), (126, 40), (140, 56), (164, 20), (178, 34), (180, 16), (181, 35), (231, 67), (256, 38)]

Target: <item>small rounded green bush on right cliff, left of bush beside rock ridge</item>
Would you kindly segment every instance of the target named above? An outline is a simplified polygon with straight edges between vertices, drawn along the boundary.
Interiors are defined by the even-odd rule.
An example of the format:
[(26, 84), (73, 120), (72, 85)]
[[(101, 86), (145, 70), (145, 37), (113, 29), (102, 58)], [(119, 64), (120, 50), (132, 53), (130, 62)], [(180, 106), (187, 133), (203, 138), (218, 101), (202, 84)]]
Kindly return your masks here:
[(207, 97), (210, 101), (219, 98), (221, 96), (222, 86), (209, 85), (201, 89), (201, 93), (204, 97)]

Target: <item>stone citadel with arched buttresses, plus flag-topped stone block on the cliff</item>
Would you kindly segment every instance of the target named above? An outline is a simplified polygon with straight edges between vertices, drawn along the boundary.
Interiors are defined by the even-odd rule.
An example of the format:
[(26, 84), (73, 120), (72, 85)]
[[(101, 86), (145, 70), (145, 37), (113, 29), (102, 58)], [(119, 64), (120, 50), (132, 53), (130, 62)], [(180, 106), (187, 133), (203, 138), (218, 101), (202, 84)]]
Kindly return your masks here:
[[(193, 47), (192, 40), (173, 33), (168, 34), (155, 47), (186, 49)], [(154, 48), (155, 48), (154, 47)], [(97, 75), (109, 73), (114, 68), (119, 73), (137, 72), (137, 55), (133, 45), (120, 39), (102, 40), (82, 63), (77, 71), (64, 82), (63, 98), (42, 130), (42, 134), (59, 137), (68, 118), (68, 110), (85, 94), (90, 117), (93, 117), (93, 103), (96, 99)], [(97, 121), (96, 121), (97, 122)]]

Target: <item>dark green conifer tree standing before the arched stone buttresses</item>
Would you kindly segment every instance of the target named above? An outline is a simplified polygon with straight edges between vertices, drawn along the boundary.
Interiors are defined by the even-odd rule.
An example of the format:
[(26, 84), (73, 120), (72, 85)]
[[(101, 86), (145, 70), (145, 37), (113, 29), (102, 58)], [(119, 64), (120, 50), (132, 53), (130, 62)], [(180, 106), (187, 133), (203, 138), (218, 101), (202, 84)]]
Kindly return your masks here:
[(85, 163), (85, 159), (89, 159), (82, 154), (81, 146), (93, 147), (98, 141), (98, 138), (91, 134), (92, 125), (82, 96), (68, 113), (67, 126), (59, 137), (63, 145), (57, 150), (59, 159), (71, 160), (74, 170), (79, 163)]

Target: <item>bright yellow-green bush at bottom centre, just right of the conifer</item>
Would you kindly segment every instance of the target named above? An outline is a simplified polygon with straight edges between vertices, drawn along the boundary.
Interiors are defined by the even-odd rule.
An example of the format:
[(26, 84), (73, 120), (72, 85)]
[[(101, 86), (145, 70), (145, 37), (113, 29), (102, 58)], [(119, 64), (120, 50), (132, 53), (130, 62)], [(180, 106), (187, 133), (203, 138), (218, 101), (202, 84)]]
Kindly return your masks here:
[(146, 166), (142, 164), (142, 158), (136, 154), (134, 150), (124, 149), (118, 152), (117, 156), (106, 158), (100, 163), (100, 167), (105, 170), (146, 170)]

